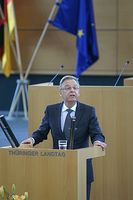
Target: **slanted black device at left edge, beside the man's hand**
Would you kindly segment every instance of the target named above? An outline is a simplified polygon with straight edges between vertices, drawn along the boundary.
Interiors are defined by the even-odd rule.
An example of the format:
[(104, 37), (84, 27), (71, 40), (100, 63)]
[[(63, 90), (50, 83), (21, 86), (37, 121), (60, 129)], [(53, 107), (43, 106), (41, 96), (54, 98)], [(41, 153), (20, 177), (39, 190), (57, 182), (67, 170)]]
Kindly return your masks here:
[(2, 131), (4, 132), (7, 140), (9, 141), (10, 145), (12, 146), (12, 148), (15, 147), (19, 147), (19, 142), (16, 139), (14, 133), (12, 132), (9, 124), (7, 123), (4, 115), (0, 116), (0, 127), (2, 129)]

